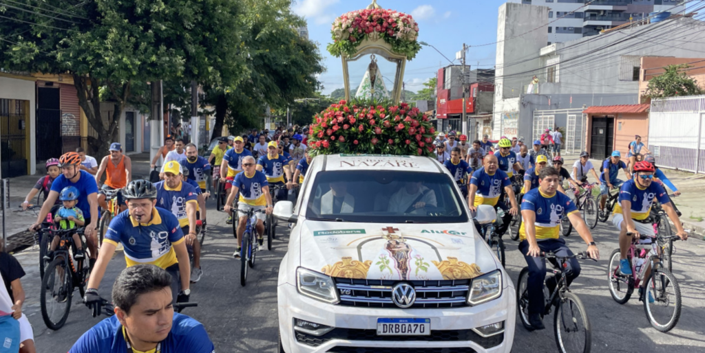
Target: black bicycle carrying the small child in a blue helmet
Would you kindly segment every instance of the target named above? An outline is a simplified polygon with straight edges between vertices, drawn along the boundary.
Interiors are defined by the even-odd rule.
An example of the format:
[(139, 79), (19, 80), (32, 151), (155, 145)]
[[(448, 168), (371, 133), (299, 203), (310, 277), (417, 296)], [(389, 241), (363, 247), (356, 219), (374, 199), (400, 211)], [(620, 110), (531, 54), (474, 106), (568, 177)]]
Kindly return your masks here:
[[(39, 301), (42, 306), (42, 319), (51, 330), (59, 330), (66, 323), (68, 312), (71, 310), (71, 298), (73, 290), (78, 287), (78, 293), (85, 295), (85, 286), (90, 275), (89, 262), (90, 250), (86, 247), (83, 232), (85, 228), (78, 229), (49, 229), (46, 238), (53, 239), (59, 236), (59, 247), (54, 250), (54, 259), (47, 265), (47, 269), (42, 277), (42, 291), (39, 293)], [(85, 259), (74, 260), (73, 254), (76, 245), (73, 242), (73, 233), (77, 233), (81, 238), (82, 249), (85, 252)], [(51, 240), (49, 240), (51, 242)]]

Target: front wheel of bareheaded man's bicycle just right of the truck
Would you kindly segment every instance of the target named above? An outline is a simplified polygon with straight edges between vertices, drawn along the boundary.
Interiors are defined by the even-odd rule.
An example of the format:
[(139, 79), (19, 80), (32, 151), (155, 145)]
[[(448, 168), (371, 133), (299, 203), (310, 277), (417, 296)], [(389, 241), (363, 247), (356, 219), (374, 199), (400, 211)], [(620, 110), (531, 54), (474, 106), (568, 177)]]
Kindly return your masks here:
[(591, 334), (587, 311), (577, 295), (565, 292), (560, 295), (553, 312), (553, 333), (556, 345), (563, 353), (590, 352)]

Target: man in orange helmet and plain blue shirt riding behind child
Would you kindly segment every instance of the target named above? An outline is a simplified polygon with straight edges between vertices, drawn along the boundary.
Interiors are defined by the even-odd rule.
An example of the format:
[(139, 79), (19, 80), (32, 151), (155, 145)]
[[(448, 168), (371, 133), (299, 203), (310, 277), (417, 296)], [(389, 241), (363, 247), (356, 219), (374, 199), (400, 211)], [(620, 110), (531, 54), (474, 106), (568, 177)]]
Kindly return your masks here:
[(39, 214), (37, 214), (37, 221), (30, 226), (30, 231), (39, 230), (42, 222), (47, 219), (47, 214), (54, 207), (54, 202), (59, 198), (59, 192), (67, 186), (74, 186), (78, 190), (77, 206), (83, 212), (85, 224), (87, 224), (84, 235), (90, 250), (89, 264), (92, 269), (98, 257), (98, 240), (95, 234), (98, 219), (100, 218), (98, 213), (98, 186), (95, 184), (95, 179), (91, 174), (85, 170), (80, 170), (80, 164), (81, 158), (75, 152), (65, 153), (59, 158), (61, 175), (56, 177), (54, 182), (51, 183), (51, 191), (49, 191), (47, 200), (42, 205), (42, 210), (39, 210)]

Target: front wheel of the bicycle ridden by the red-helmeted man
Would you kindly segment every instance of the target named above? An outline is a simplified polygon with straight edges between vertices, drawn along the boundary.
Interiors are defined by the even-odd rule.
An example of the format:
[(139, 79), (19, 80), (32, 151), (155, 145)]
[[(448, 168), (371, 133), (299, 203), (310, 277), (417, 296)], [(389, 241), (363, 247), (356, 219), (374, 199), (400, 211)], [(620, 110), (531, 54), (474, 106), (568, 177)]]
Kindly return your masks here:
[[(649, 303), (649, 295), (654, 297), (653, 303)], [(644, 312), (651, 326), (661, 332), (670, 331), (680, 319), (680, 309), (680, 287), (675, 276), (666, 269), (651, 271), (644, 293)]]

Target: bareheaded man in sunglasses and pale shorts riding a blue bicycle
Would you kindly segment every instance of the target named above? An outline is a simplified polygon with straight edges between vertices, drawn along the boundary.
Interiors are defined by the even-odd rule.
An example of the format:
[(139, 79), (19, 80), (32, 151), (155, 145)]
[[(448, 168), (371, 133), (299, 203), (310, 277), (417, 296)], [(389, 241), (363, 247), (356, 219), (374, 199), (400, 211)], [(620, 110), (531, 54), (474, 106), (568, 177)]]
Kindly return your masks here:
[[(240, 219), (238, 221), (238, 231), (235, 233), (235, 239), (238, 243), (233, 256), (240, 258), (240, 250), (242, 250), (241, 239), (247, 228), (247, 212), (250, 210), (265, 210), (266, 214), (271, 214), (272, 203), (271, 195), (269, 195), (269, 183), (264, 173), (255, 169), (255, 158), (251, 155), (243, 158), (243, 172), (235, 176), (233, 181), (233, 192), (228, 195), (228, 200), (225, 203), (226, 212), (233, 211), (233, 201), (235, 195), (240, 193), (238, 200), (238, 212)], [(261, 212), (255, 213), (257, 218), (257, 238), (262, 241), (264, 233), (264, 214)], [(254, 244), (257, 246), (257, 244)]]

